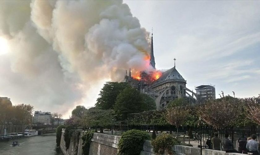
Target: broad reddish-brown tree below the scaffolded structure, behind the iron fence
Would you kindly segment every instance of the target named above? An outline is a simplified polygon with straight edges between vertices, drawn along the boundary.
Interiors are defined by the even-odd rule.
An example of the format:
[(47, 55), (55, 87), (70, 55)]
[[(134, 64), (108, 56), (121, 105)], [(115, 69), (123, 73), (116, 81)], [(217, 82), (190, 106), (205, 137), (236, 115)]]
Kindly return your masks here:
[(214, 128), (230, 126), (241, 113), (240, 100), (225, 96), (216, 100), (208, 100), (197, 108), (197, 113), (207, 124)]

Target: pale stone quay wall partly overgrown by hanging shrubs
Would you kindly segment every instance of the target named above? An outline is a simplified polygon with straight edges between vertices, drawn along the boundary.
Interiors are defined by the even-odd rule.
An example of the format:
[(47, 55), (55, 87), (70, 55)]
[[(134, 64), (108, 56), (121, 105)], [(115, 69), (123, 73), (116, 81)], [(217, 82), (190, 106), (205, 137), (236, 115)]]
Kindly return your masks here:
[[(82, 154), (82, 139), (84, 132), (80, 134), (79, 142), (73, 142), (71, 140), (69, 149), (66, 150), (65, 141), (64, 141), (64, 132), (62, 130), (62, 137), (60, 142), (60, 148), (64, 155), (83, 155)], [(93, 138), (91, 139), (89, 155), (117, 155), (119, 149), (118, 144), (120, 136), (107, 135), (102, 133), (94, 133)], [(77, 147), (78, 145), (78, 147)], [(76, 151), (77, 149), (77, 151)], [(200, 155), (200, 148), (184, 146), (184, 145), (175, 145), (172, 147), (172, 150), (176, 155)], [(153, 147), (151, 141), (145, 141), (143, 145), (143, 150), (140, 155), (155, 155), (153, 152)], [(167, 154), (166, 154), (167, 155)], [(217, 151), (212, 149), (202, 149), (202, 155), (241, 155), (241, 153), (225, 153), (224, 151)]]

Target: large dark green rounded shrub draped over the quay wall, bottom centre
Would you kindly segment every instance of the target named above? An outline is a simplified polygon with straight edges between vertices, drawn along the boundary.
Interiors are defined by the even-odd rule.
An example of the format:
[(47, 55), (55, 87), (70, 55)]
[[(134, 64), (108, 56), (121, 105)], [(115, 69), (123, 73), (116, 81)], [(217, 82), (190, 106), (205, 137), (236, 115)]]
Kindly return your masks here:
[(145, 131), (132, 129), (123, 133), (118, 155), (139, 155), (146, 139), (150, 139), (150, 135)]

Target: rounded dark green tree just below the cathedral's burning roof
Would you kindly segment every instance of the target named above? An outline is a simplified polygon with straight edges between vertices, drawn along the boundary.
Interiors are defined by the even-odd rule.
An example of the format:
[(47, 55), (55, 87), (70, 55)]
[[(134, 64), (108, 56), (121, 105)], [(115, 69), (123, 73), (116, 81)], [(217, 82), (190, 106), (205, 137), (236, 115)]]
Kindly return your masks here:
[(129, 113), (143, 112), (143, 107), (144, 102), (140, 92), (128, 87), (117, 96), (114, 110), (120, 120), (125, 120)]

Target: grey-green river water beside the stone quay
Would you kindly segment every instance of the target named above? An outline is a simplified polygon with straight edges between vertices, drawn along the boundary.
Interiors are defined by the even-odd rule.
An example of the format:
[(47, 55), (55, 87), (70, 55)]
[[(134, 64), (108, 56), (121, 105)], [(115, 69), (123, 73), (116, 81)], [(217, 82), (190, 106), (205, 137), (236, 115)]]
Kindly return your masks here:
[(42, 134), (16, 139), (19, 146), (12, 146), (13, 140), (0, 142), (0, 155), (62, 155), (56, 150), (56, 133)]

